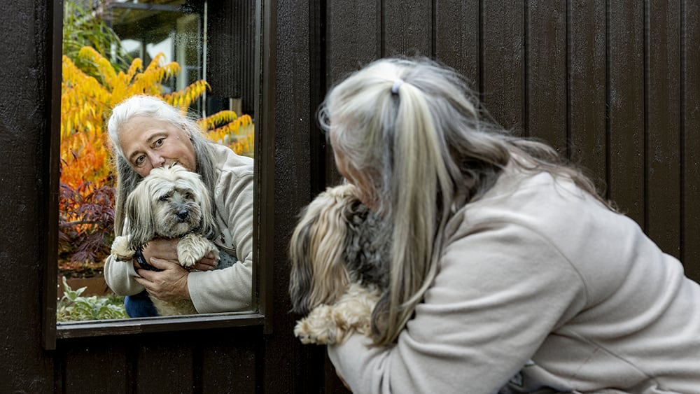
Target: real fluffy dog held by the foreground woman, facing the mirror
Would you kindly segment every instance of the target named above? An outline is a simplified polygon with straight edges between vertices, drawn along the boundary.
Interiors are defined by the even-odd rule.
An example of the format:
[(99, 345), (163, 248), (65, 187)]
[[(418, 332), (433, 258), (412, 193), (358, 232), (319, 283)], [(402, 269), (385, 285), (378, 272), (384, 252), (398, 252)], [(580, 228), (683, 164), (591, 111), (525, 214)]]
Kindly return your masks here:
[(356, 188), (328, 188), (304, 209), (290, 241), (289, 293), (304, 344), (339, 344), (371, 335), (372, 311), (386, 289), (380, 218)]

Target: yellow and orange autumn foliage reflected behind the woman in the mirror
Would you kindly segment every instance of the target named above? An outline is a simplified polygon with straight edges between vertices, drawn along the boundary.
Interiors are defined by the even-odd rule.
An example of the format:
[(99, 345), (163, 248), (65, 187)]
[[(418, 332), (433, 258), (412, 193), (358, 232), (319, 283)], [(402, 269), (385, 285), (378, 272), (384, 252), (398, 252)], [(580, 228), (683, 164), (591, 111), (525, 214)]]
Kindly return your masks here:
[[(78, 57), (92, 64), (97, 73), (93, 70), (90, 75), (63, 57), (59, 264), (66, 270), (99, 265), (109, 253), (116, 181), (105, 129), (111, 108), (128, 97), (148, 94), (161, 97), (184, 114), (209, 88), (206, 81), (198, 80), (166, 94), (163, 82), (176, 76), (180, 66), (166, 63), (162, 54), (145, 69), (141, 59), (134, 59), (127, 71), (117, 71), (89, 46), (81, 48)], [(241, 155), (252, 155), (254, 133), (249, 115), (221, 111), (197, 122), (212, 141)]]

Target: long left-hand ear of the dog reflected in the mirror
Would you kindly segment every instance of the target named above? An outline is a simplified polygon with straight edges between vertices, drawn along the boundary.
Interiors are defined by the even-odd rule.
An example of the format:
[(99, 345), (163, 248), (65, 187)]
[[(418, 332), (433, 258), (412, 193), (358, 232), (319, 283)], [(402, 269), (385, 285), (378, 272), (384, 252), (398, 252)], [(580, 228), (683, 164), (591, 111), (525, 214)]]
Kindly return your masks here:
[(141, 248), (155, 236), (155, 220), (151, 195), (143, 188), (138, 188), (127, 197), (125, 204), (127, 220), (129, 220), (130, 248)]

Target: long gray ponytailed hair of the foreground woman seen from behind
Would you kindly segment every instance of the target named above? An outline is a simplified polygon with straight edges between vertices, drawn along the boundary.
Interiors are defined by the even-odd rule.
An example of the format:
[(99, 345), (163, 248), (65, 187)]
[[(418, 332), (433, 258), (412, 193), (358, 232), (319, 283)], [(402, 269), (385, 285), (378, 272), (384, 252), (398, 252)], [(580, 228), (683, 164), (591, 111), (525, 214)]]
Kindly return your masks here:
[(485, 121), (465, 78), (430, 59), (372, 62), (330, 90), (318, 117), (388, 223), (389, 291), (372, 316), (377, 345), (395, 341), (433, 281), (447, 220), (507, 164), (571, 179), (603, 201), (556, 150)]

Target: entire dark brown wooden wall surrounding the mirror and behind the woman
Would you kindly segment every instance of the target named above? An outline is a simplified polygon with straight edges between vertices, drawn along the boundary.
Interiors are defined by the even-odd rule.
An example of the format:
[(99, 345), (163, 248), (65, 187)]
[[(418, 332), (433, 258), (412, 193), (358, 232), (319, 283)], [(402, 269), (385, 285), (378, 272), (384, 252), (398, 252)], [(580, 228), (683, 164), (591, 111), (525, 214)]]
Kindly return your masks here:
[(498, 122), (584, 164), (700, 279), (696, 2), (266, 0), (258, 141), (269, 176), (258, 192), (272, 213), (260, 229), (274, 241), (261, 251), (272, 267), (261, 282), (269, 326), (58, 339), (46, 350), (56, 15), (43, 0), (3, 5), (2, 393), (343, 392), (324, 349), (291, 334), (286, 244), (299, 209), (337, 176), (314, 118), (325, 89), (388, 55), (433, 56), (463, 71)]

